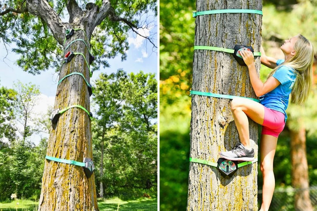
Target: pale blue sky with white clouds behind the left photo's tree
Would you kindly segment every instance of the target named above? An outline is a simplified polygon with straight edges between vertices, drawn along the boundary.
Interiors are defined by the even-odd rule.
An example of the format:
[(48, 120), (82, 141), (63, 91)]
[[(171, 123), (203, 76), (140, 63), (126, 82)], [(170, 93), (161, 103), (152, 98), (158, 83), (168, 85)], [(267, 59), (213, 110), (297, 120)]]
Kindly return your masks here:
[[(157, 34), (157, 19), (155, 18), (153, 21), (155, 21), (155, 27), (150, 30), (150, 34)], [(90, 78), (90, 82), (92, 84), (94, 84), (94, 80), (99, 77), (100, 73), (110, 74), (112, 72), (116, 72), (120, 68), (127, 73), (139, 72), (142, 70), (145, 73), (151, 72), (157, 74), (158, 55), (157, 53), (152, 53), (152, 44), (148, 42), (146, 45), (144, 39), (140, 36), (136, 36), (136, 34), (133, 34), (132, 32), (129, 34), (128, 41), (130, 49), (127, 51), (127, 59), (121, 62), (120, 55), (114, 59), (109, 59), (108, 62), (110, 64), (110, 68), (101, 67), (99, 71), (95, 71), (93, 77)], [(157, 42), (157, 37), (155, 42)], [(157, 43), (155, 44), (158, 46)], [(7, 47), (9, 54), (6, 59), (4, 59), (7, 51), (3, 42), (0, 42), (0, 85), (7, 88), (13, 88), (13, 84), (18, 80), (20, 80), (23, 84), (31, 82), (38, 85), (42, 94), (39, 98), (38, 105), (35, 107), (35, 112), (37, 115), (46, 114), (48, 106), (54, 105), (58, 75), (53, 69), (49, 69), (48, 71), (35, 76), (24, 72), (20, 67), (15, 65), (15, 61), (19, 58), (19, 55), (11, 52), (13, 47), (15, 47), (13, 43), (10, 47)], [(156, 78), (158, 78), (158, 74), (156, 75)], [(48, 134), (41, 135), (48, 137)], [(40, 136), (33, 134), (30, 139), (35, 144), (38, 144)]]

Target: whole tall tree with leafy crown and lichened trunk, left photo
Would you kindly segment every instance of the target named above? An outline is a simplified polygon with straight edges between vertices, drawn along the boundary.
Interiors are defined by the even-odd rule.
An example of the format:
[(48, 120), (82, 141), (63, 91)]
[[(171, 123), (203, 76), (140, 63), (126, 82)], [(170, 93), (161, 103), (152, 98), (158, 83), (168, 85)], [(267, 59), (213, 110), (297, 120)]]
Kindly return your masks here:
[[(61, 20), (65, 17), (65, 7), (69, 22)], [(89, 58), (90, 49), (96, 57), (93, 70), (100, 65), (109, 66), (106, 59), (113, 58), (118, 53), (125, 59), (125, 51), (128, 49), (127, 32), (131, 29), (145, 37), (139, 31), (150, 28), (145, 24), (146, 21), (142, 22), (135, 17), (140, 17), (149, 10), (156, 11), (156, 1), (117, 3), (97, 0), (95, 3), (87, 3), (75, 0), (5, 0), (0, 8), (0, 36), (6, 44), (16, 43), (17, 48), (13, 51), (21, 54), (17, 64), (24, 71), (39, 74), (52, 66), (59, 70), (60, 79), (76, 71), (89, 80), (89, 66), (82, 56), (76, 56), (70, 63), (60, 65), (61, 55), (64, 57), (66, 54), (62, 48), (74, 39), (86, 40), (87, 47), (84, 42), (78, 41), (68, 50), (81, 52)], [(77, 31), (64, 43), (67, 28), (82, 28), (86, 34), (84, 31)], [(93, 34), (95, 28), (97, 29)], [(155, 36), (151, 36), (153, 35)], [(92, 37), (95, 40), (91, 46)], [(146, 39), (156, 47), (152, 37)], [(89, 110), (87, 90), (87, 85), (79, 75), (63, 80), (57, 88), (54, 108), (63, 109), (80, 104)], [(51, 127), (47, 155), (77, 161), (82, 161), (84, 157), (92, 158), (91, 125), (83, 110), (66, 111), (57, 125)], [(98, 210), (94, 176), (87, 179), (82, 168), (45, 161), (42, 181), (39, 210)], [(48, 203), (47, 200), (53, 203)]]

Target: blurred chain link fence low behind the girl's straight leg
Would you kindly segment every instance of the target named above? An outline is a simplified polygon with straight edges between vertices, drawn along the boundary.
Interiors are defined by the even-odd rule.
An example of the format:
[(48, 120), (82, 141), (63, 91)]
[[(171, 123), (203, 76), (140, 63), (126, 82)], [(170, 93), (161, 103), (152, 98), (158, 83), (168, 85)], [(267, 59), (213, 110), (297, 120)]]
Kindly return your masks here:
[[(306, 200), (303, 199), (307, 195)], [(309, 196), (308, 196), (309, 195)], [(307, 199), (310, 199), (307, 202)], [(258, 191), (258, 206), (261, 207), (262, 190)], [(310, 208), (310, 209), (309, 209)], [(294, 189), (292, 187), (286, 189), (276, 189), (273, 194), (272, 202), (269, 211), (317, 211), (317, 186), (312, 186), (309, 189)]]

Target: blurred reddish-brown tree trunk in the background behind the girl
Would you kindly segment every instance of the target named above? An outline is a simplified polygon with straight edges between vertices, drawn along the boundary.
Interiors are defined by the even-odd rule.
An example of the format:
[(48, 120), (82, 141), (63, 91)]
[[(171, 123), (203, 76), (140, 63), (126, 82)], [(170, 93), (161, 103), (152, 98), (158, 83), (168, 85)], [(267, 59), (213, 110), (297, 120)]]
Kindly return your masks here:
[(292, 185), (298, 191), (295, 193), (295, 210), (312, 211), (309, 198), (308, 165), (306, 157), (306, 130), (302, 121), (298, 121), (300, 129), (290, 130)]

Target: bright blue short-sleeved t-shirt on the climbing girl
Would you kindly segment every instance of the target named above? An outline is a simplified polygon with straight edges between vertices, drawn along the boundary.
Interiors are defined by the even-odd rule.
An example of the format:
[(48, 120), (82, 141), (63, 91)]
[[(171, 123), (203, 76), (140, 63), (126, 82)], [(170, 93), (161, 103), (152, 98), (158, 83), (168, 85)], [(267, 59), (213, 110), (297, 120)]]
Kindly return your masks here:
[[(279, 59), (276, 61), (276, 65), (283, 62), (284, 59)], [(272, 76), (281, 84), (274, 90), (260, 96), (260, 103), (267, 108), (282, 112), (285, 115), (286, 123), (287, 114), (285, 110), (288, 107), (289, 95), (296, 80), (296, 71), (290, 66), (281, 65)]]

